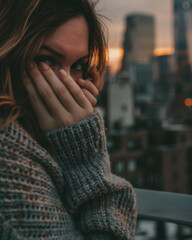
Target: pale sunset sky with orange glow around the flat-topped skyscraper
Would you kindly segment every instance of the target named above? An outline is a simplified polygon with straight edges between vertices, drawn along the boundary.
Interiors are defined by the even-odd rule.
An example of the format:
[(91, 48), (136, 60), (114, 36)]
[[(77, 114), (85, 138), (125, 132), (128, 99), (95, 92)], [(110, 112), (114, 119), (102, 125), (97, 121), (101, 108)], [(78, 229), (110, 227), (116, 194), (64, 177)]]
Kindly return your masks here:
[(109, 33), (109, 61), (113, 69), (118, 68), (123, 55), (125, 17), (128, 14), (153, 15), (156, 35), (154, 54), (173, 53), (173, 0), (100, 0), (97, 9), (109, 18), (104, 22)]

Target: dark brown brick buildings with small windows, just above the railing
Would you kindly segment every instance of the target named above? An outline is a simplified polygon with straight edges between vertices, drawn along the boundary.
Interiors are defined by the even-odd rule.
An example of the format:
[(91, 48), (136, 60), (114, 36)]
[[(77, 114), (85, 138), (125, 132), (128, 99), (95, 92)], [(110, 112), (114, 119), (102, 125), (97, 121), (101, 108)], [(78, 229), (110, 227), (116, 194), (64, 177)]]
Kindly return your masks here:
[(108, 137), (112, 171), (134, 187), (192, 193), (192, 128), (169, 125)]

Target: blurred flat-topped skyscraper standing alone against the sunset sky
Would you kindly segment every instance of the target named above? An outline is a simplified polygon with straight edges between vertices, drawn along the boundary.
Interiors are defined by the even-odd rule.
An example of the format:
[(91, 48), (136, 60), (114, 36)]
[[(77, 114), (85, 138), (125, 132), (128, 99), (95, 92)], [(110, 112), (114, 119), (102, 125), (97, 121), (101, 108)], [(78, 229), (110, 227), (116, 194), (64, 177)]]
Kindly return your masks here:
[(126, 18), (124, 37), (123, 71), (130, 63), (148, 64), (151, 62), (155, 47), (154, 17), (143, 14), (131, 14)]

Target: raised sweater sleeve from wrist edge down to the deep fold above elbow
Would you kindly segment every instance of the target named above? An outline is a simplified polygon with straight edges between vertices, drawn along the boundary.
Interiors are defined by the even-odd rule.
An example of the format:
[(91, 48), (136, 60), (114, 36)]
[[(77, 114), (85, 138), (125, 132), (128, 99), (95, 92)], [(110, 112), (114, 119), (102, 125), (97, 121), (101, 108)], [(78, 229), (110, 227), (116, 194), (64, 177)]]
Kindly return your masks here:
[(64, 179), (63, 197), (71, 213), (106, 193), (111, 178), (104, 121), (99, 109), (87, 119), (46, 133)]

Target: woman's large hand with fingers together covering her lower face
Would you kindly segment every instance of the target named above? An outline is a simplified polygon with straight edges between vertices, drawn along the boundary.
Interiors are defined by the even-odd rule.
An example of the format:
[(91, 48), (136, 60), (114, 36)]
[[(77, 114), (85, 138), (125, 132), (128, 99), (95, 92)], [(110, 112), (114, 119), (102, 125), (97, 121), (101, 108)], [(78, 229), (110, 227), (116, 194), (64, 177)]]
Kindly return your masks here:
[(58, 75), (45, 63), (40, 63), (39, 68), (35, 63), (30, 63), (27, 73), (24, 71), (22, 75), (40, 128), (44, 132), (77, 123), (93, 113), (90, 95), (87, 98), (86, 94), (89, 89), (92, 92), (95, 88), (90, 83), (84, 83), (85, 88), (82, 90), (64, 70), (60, 70)]

